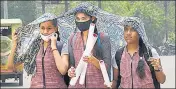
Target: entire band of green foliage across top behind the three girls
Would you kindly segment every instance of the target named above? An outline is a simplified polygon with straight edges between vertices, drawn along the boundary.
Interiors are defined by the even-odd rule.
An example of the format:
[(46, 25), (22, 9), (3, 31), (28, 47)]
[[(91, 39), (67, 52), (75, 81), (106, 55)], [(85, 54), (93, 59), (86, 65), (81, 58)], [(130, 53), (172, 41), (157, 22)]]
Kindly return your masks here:
[[(21, 18), (27, 24), (42, 13), (42, 9), (36, 9), (38, 1), (8, 1), (9, 18)], [(68, 10), (85, 1), (68, 1)], [(98, 1), (87, 1), (98, 6)], [(59, 4), (47, 4), (46, 12), (60, 15), (65, 12), (65, 1)], [(167, 1), (167, 11), (164, 7), (165, 1), (101, 1), (101, 8), (109, 13), (120, 16), (137, 16), (142, 19), (149, 41), (154, 45), (162, 45), (166, 41), (175, 43), (175, 2)], [(37, 4), (37, 5), (38, 5)], [(3, 5), (1, 3), (1, 12)], [(41, 6), (38, 6), (41, 7)], [(37, 13), (38, 12), (38, 13)], [(165, 12), (167, 16), (165, 16)], [(1, 13), (1, 18), (3, 13)]]

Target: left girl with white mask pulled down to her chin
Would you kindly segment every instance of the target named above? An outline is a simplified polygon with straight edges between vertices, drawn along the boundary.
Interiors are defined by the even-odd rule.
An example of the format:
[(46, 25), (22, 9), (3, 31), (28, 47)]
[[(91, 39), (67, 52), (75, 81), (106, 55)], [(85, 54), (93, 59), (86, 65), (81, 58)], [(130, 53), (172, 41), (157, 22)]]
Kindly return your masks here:
[[(35, 67), (24, 64), (27, 70), (36, 70), (36, 72), (32, 71), (34, 76), (32, 76), (30, 88), (67, 88), (63, 75), (67, 72), (68, 60), (63, 60), (60, 55), (62, 43), (60, 42), (56, 16), (46, 13), (40, 18), (42, 18), (39, 19), (39, 21), (41, 20), (39, 27), (42, 40), (36, 58), (33, 60), (35, 61), (33, 62)], [(17, 49), (17, 33), (13, 33), (12, 41), (13, 47), (8, 57), (9, 68), (13, 68), (14, 66), (14, 55)], [(16, 64), (21, 63), (17, 62)]]

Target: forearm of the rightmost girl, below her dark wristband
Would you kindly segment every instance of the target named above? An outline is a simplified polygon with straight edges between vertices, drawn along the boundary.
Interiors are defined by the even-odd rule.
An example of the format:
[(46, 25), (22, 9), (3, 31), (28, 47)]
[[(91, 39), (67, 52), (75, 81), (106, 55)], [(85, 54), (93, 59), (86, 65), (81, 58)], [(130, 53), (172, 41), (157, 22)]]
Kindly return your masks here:
[(156, 74), (156, 79), (158, 80), (159, 83), (163, 84), (166, 80), (166, 75), (164, 74), (163, 71), (155, 71)]

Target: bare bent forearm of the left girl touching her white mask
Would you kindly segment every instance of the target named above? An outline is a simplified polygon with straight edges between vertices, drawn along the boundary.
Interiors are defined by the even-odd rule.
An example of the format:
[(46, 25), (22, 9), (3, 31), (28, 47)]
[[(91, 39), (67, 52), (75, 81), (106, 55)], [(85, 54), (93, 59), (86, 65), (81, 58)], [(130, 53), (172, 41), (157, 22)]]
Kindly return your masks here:
[(67, 72), (67, 69), (68, 69), (68, 61), (67, 61), (67, 56), (68, 55), (64, 55), (64, 57), (62, 57), (60, 55), (60, 53), (58, 52), (58, 50), (54, 50), (53, 55), (54, 55), (54, 59), (55, 59), (57, 69), (59, 70), (59, 72), (62, 75), (65, 75), (66, 72)]

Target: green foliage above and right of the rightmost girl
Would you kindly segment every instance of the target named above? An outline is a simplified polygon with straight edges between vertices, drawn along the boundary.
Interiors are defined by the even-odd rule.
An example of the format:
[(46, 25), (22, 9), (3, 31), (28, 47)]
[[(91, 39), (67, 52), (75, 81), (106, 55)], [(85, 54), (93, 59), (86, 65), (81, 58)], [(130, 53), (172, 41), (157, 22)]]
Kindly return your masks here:
[(173, 1), (167, 3), (166, 17), (164, 1), (102, 1), (102, 9), (120, 16), (140, 17), (150, 43), (162, 45), (166, 40), (166, 30), (169, 42), (175, 41), (175, 4)]

